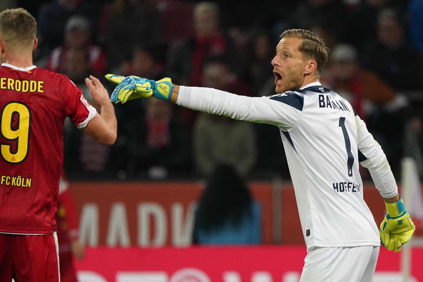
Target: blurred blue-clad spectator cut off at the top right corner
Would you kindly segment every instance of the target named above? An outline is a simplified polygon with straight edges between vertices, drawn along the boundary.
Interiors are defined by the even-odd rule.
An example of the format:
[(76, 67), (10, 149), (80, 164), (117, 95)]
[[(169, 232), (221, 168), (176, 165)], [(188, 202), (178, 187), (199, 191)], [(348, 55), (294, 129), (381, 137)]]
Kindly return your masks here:
[(423, 53), (423, 0), (412, 0), (408, 7), (410, 38), (414, 47)]

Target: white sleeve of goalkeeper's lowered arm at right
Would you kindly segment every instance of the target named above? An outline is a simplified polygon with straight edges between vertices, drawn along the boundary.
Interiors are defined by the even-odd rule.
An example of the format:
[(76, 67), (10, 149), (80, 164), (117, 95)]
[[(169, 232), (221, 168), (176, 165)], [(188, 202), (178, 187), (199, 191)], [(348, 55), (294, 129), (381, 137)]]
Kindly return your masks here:
[[(364, 121), (358, 115), (355, 117), (355, 121), (357, 124), (360, 164), (368, 168), (371, 178), (382, 197), (394, 197), (398, 193), (398, 187), (385, 153), (379, 143), (368, 132)], [(361, 156), (360, 153), (362, 153)]]

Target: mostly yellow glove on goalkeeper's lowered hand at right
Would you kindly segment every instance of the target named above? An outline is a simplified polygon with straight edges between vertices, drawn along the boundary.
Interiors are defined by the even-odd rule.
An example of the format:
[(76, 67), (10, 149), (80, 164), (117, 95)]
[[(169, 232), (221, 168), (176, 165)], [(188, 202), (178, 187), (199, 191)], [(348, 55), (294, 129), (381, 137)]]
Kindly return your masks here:
[(399, 252), (401, 246), (411, 239), (416, 227), (405, 211), (401, 196), (398, 202), (392, 204), (385, 202), (385, 205), (385, 219), (379, 228), (380, 241), (388, 250)]

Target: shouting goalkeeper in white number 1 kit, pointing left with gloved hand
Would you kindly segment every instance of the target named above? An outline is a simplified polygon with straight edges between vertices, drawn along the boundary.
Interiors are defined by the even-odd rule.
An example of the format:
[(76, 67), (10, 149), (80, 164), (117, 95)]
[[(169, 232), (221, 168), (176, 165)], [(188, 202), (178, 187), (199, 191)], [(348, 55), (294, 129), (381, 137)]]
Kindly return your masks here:
[[(112, 101), (154, 96), (194, 110), (279, 127), (308, 255), (300, 282), (371, 282), (379, 247), (398, 252), (415, 226), (380, 145), (348, 101), (324, 88), (329, 49), (314, 33), (286, 30), (272, 60), (276, 95), (247, 97), (140, 77), (119, 83)], [(378, 227), (363, 200), (359, 163), (385, 200)], [(381, 199), (382, 200), (382, 199)]]

